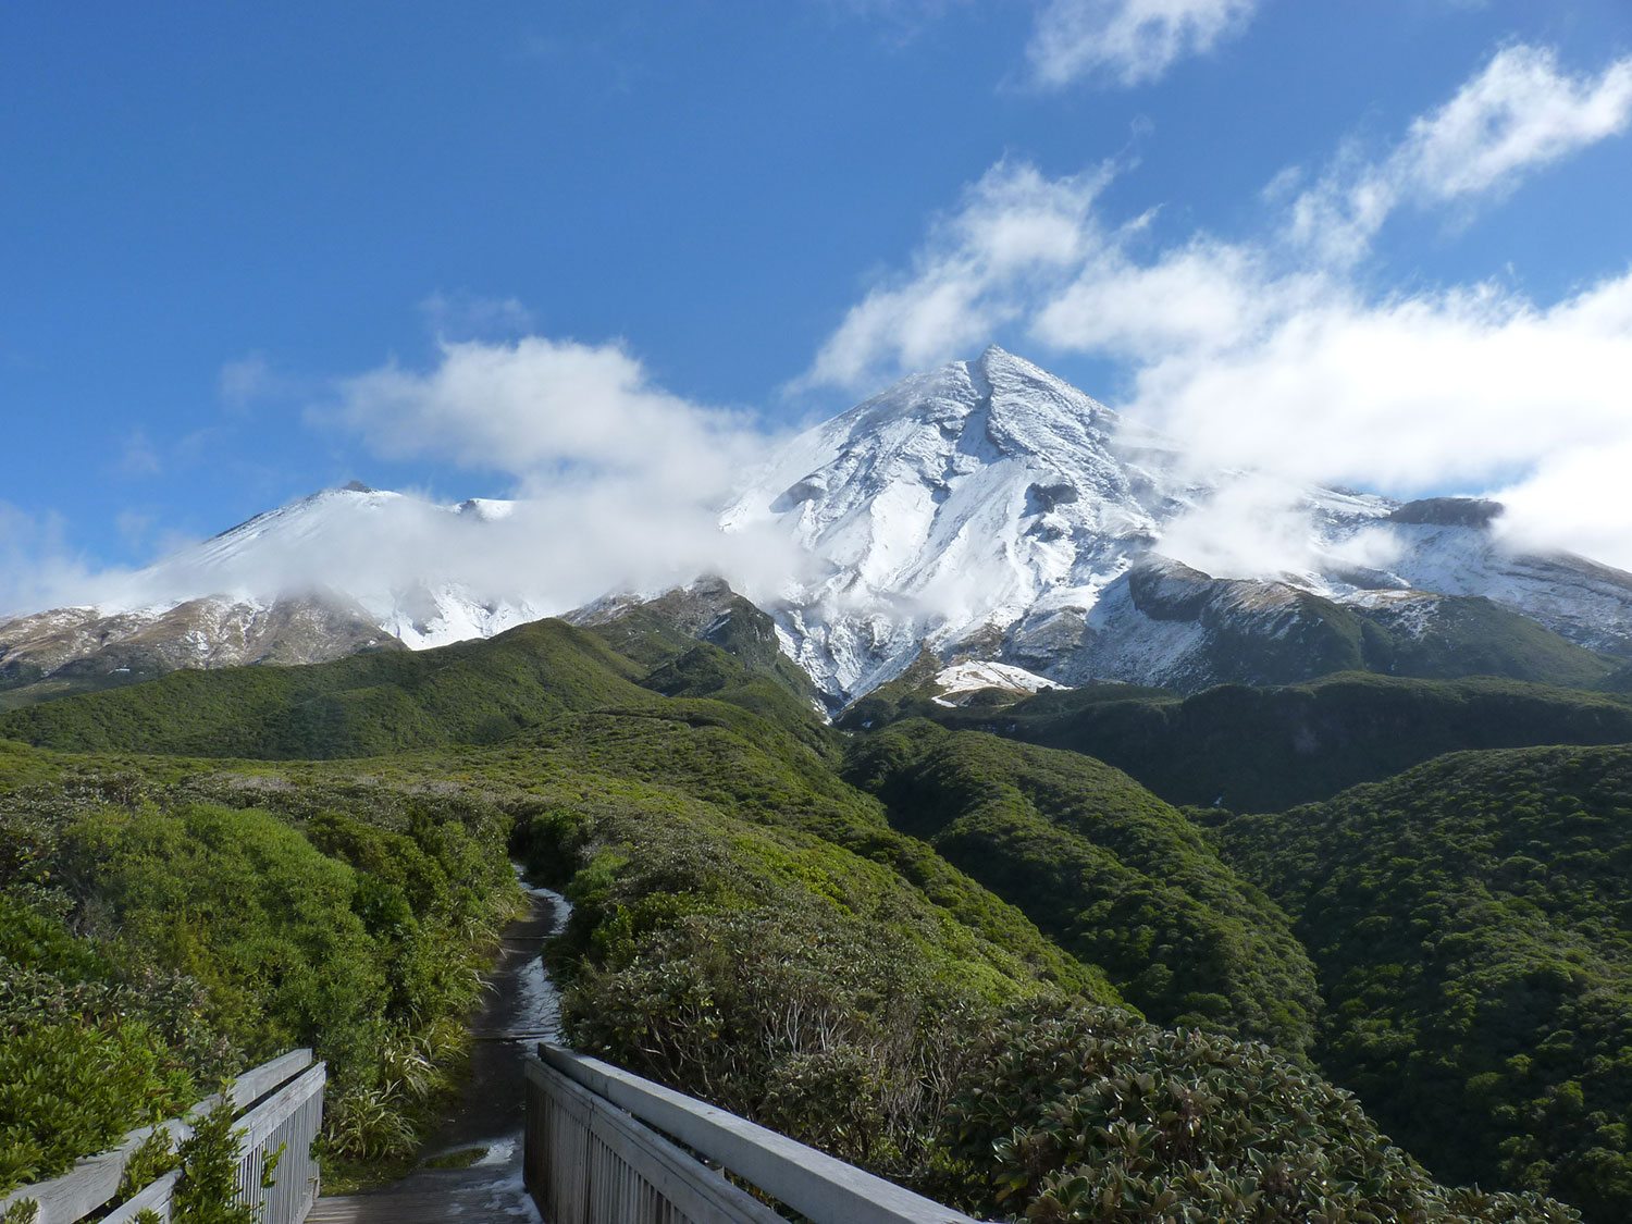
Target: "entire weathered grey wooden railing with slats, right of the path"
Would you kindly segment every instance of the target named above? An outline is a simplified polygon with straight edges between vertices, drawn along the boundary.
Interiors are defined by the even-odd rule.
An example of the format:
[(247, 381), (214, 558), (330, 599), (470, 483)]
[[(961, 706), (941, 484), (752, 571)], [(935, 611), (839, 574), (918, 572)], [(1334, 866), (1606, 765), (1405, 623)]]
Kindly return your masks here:
[(548, 1044), (527, 1059), (524, 1152), (548, 1224), (785, 1224), (698, 1157), (813, 1224), (973, 1224), (734, 1113)]

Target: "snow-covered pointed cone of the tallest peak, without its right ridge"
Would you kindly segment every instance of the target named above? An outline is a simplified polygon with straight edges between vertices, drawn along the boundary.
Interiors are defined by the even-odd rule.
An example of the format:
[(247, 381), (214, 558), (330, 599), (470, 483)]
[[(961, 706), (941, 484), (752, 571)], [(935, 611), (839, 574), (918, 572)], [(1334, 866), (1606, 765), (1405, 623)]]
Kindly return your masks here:
[(1022, 617), (1092, 607), (1186, 488), (1116, 454), (1105, 405), (1002, 349), (891, 387), (790, 442), (721, 517), (787, 530), (814, 578), (777, 592), (795, 659), (858, 694)]

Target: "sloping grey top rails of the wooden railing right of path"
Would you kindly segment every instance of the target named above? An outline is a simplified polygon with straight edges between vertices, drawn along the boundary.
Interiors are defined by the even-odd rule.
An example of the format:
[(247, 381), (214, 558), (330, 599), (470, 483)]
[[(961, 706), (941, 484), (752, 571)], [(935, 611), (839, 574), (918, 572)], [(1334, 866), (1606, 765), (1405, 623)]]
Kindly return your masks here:
[(976, 1224), (894, 1182), (599, 1059), (547, 1043), (540, 1043), (539, 1058), (814, 1224)]

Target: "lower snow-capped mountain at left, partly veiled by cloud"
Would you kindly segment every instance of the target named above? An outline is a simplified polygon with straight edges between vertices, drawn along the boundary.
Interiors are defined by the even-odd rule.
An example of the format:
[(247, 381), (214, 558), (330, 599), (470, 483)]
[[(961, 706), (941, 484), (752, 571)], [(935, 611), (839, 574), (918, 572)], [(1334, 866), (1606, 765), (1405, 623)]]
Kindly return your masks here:
[[(258, 514), (137, 573), (93, 604), (0, 620), (0, 689), (96, 687), (175, 671), (325, 663), (491, 636), (547, 609), (428, 571), (509, 517), (503, 501), (437, 504), (353, 483)], [(478, 550), (480, 552), (480, 550)]]

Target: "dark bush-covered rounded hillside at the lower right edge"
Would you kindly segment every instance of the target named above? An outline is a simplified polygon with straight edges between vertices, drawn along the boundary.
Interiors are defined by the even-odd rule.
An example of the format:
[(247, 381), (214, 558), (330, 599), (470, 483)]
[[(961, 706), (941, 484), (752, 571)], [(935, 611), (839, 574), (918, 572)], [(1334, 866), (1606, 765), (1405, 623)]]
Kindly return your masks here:
[(1412, 1152), (1632, 1217), (1632, 747), (1449, 756), (1217, 839), (1315, 960), (1320, 1064)]

